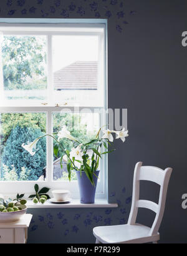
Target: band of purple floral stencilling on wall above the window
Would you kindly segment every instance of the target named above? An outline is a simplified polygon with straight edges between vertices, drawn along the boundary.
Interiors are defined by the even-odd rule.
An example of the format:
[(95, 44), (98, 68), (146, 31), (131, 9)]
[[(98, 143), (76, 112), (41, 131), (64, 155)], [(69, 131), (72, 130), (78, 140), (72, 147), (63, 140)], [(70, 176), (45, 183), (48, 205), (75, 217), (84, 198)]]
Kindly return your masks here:
[(112, 19), (117, 32), (122, 33), (135, 10), (125, 0), (5, 0), (1, 3), (3, 17), (57, 17)]

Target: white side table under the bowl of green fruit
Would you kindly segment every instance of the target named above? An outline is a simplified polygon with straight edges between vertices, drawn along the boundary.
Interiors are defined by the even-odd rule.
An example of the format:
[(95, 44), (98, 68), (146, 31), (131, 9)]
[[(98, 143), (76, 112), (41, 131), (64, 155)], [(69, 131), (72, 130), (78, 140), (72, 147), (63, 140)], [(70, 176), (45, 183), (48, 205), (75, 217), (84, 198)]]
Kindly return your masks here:
[(0, 244), (26, 244), (31, 219), (31, 214), (25, 214), (16, 222), (0, 223)]

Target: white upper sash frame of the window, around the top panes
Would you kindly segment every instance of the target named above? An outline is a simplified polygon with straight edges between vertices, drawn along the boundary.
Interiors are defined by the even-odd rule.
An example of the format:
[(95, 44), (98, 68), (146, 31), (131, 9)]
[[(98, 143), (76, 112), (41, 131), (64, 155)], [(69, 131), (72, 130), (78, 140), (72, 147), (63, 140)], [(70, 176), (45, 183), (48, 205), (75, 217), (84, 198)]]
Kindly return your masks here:
[[(9, 24), (8, 26), (3, 26), (0, 24), (0, 32), (3, 35), (36, 35), (36, 36), (47, 36), (47, 99), (44, 101), (35, 100), (35, 101), (15, 101), (15, 100), (6, 100), (4, 99), (4, 83), (3, 83), (3, 74), (2, 67), (0, 68), (0, 106), (38, 106), (47, 102), (49, 106), (54, 106), (54, 84), (53, 84), (53, 74), (52, 74), (52, 36), (55, 35), (79, 35), (79, 36), (98, 36), (98, 83), (97, 83), (97, 95), (102, 96), (103, 101), (102, 106), (105, 106), (105, 52), (106, 52), (106, 41), (105, 41), (105, 24), (57, 24), (57, 26), (49, 24)], [(69, 31), (71, 30), (71, 31)], [(1, 37), (0, 34), (0, 37)], [(1, 54), (0, 54), (1, 61)], [(69, 106), (71, 106), (69, 102)], [(94, 100), (92, 106), (94, 105)]]

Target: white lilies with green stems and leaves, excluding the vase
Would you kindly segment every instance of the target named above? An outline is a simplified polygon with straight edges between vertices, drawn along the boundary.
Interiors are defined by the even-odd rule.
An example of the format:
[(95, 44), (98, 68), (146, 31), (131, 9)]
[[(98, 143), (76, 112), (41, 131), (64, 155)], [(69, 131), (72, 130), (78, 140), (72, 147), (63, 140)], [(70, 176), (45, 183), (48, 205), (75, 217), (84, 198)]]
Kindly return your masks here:
[[(103, 135), (100, 136), (100, 132), (103, 132)], [(115, 139), (121, 139), (125, 142), (125, 137), (128, 137), (128, 130), (125, 130), (123, 127), (122, 130), (102, 130), (102, 127), (98, 130), (95, 135), (95, 139), (90, 140), (87, 143), (80, 142), (79, 138), (75, 138), (70, 131), (67, 130), (66, 126), (63, 126), (62, 129), (57, 132), (57, 138), (54, 135), (45, 134), (41, 137), (37, 137), (33, 142), (28, 145), (24, 145), (24, 149), (26, 149), (31, 155), (34, 155), (33, 149), (36, 148), (37, 143), (40, 139), (49, 136), (52, 137), (55, 141), (54, 145), (54, 154), (57, 157), (59, 154), (59, 149), (62, 150), (62, 155), (60, 156), (60, 165), (62, 168), (62, 159), (67, 162), (67, 172), (68, 178), (71, 180), (72, 170), (77, 170), (80, 172), (80, 176), (82, 172), (85, 172), (91, 184), (95, 186), (93, 181), (93, 175), (96, 176), (95, 171), (98, 169), (99, 161), (102, 159), (102, 155), (113, 152), (115, 149), (108, 150), (108, 146), (113, 143), (113, 135), (115, 134)], [(71, 150), (65, 149), (62, 141), (64, 139), (68, 139), (72, 141), (73, 147)], [(89, 150), (92, 152), (90, 157)], [(97, 176), (96, 176), (97, 177)], [(98, 178), (98, 177), (97, 177)]]

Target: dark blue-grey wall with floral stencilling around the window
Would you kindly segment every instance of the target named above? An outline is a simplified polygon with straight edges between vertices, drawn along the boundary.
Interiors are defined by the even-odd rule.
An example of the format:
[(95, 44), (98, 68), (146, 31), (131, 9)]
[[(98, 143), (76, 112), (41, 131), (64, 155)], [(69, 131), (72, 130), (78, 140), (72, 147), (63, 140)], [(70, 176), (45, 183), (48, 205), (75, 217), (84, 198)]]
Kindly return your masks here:
[[(186, 55), (181, 33), (187, 30), (185, 0), (9, 0), (1, 17), (108, 18), (108, 105), (128, 109), (130, 137), (117, 142), (109, 157), (109, 195), (118, 209), (29, 210), (34, 217), (29, 242), (94, 242), (95, 225), (127, 222), (133, 169), (139, 160), (173, 167), (161, 242), (186, 242)], [(141, 184), (141, 197), (155, 200), (158, 187)], [(153, 196), (151, 196), (153, 192)], [(154, 215), (140, 210), (150, 225)]]

